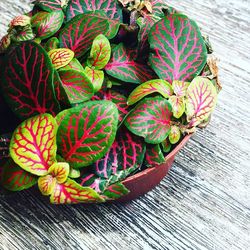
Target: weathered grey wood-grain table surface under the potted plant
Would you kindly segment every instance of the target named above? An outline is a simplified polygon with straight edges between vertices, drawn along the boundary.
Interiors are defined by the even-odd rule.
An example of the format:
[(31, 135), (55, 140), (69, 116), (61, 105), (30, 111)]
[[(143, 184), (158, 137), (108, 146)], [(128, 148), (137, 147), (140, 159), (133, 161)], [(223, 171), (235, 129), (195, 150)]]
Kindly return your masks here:
[[(0, 36), (29, 0), (0, 1)], [(122, 205), (0, 196), (0, 249), (250, 249), (250, 2), (169, 1), (210, 34), (223, 91), (152, 192)], [(3, 119), (3, 118), (1, 118)]]

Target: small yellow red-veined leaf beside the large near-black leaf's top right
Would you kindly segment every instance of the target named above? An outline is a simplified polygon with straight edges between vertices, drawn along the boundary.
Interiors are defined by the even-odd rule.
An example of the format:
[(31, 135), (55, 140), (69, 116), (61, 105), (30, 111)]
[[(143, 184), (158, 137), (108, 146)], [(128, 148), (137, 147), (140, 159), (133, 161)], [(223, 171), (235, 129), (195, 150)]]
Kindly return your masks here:
[(55, 69), (68, 65), (74, 58), (75, 53), (70, 49), (53, 49), (48, 52)]

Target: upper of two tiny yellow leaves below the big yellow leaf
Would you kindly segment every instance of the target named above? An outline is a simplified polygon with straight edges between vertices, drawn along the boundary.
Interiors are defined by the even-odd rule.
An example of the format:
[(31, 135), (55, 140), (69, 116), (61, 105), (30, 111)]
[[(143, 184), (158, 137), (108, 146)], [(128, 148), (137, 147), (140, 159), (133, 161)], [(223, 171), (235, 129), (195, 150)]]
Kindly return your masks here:
[(64, 183), (69, 176), (70, 167), (67, 162), (55, 162), (48, 170), (48, 173), (55, 177), (57, 183)]

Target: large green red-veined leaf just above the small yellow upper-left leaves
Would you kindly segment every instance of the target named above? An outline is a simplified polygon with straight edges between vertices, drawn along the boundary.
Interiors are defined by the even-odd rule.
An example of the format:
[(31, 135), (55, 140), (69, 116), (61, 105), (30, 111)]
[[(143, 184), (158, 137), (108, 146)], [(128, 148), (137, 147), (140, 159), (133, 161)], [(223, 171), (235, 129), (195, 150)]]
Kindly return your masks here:
[(92, 42), (99, 34), (109, 30), (107, 20), (81, 14), (69, 21), (59, 35), (60, 46), (75, 52), (75, 56), (83, 56), (91, 48)]

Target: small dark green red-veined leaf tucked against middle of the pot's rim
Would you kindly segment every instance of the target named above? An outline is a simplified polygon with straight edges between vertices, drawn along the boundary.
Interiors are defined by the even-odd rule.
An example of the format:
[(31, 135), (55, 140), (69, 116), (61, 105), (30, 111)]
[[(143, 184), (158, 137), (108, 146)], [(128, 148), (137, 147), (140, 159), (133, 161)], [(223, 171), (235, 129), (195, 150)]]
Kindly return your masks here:
[(144, 162), (147, 167), (155, 167), (165, 162), (166, 160), (159, 144), (147, 147)]

